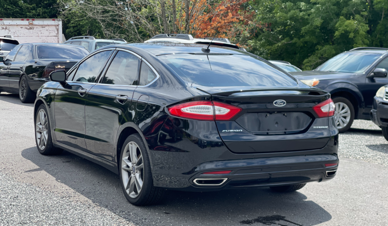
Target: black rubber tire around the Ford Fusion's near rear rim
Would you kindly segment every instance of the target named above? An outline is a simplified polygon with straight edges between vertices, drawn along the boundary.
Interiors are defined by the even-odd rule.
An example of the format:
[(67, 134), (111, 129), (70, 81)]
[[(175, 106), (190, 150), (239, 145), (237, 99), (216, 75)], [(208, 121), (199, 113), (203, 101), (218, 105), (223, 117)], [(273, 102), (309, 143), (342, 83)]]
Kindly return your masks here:
[[(143, 174), (144, 174), (144, 180), (143, 180), (143, 186), (141, 188), (140, 193), (136, 198), (130, 197), (127, 192), (125, 191), (125, 185), (123, 183), (123, 177), (122, 177), (122, 164), (123, 164), (123, 154), (124, 154), (124, 149), (125, 146), (129, 142), (135, 142), (140, 149), (141, 156), (142, 156), (142, 161), (143, 161)], [(151, 165), (150, 165), (150, 160), (148, 157), (147, 149), (144, 145), (143, 140), (141, 139), (141, 136), (139, 134), (132, 134), (128, 136), (128, 138), (124, 141), (121, 154), (120, 154), (120, 183), (121, 187), (123, 189), (123, 193), (125, 195), (125, 198), (133, 205), (135, 206), (148, 206), (148, 205), (155, 205), (157, 204), (163, 197), (163, 192), (164, 189), (154, 187), (153, 179), (152, 179), (152, 173), (151, 173)], [(127, 173), (127, 172), (124, 172)]]

